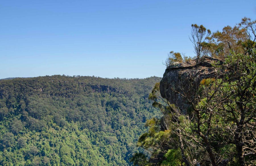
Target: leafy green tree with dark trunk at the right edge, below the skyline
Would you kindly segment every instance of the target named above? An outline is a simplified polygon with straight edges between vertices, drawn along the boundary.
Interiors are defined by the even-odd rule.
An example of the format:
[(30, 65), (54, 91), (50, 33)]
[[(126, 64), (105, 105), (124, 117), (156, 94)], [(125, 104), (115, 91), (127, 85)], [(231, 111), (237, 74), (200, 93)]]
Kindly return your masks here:
[[(253, 49), (252, 54), (235, 54), (227, 58), (227, 64), (232, 70), (227, 74), (227, 80), (222, 81), (223, 87), (220, 90), (226, 95), (219, 105), (219, 109), (223, 110), (222, 115), (225, 117), (226, 123), (235, 124), (231, 127), (229, 134), (230, 141), (236, 146), (238, 162), (240, 165), (253, 164), (256, 158), (252, 157), (252, 161), (248, 161), (248, 155), (256, 154), (256, 51)], [(246, 69), (246, 70), (245, 70)], [(234, 81), (231, 79), (236, 78)], [(247, 159), (246, 159), (247, 158)]]

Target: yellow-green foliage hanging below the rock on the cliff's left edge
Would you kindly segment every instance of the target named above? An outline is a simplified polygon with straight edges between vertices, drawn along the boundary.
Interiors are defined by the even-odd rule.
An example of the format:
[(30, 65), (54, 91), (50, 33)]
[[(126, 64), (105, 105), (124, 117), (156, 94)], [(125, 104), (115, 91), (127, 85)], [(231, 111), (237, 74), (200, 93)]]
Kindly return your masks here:
[[(146, 165), (154, 165), (152, 162), (162, 163), (163, 161), (165, 161), (163, 165), (168, 163), (176, 163), (176, 160), (172, 160), (171, 157), (172, 155), (177, 157), (178, 154), (178, 152), (175, 154), (174, 151), (168, 151), (172, 148), (178, 148), (177, 144), (175, 143), (175, 141), (177, 141), (177, 136), (173, 134), (172, 126), (170, 125), (172, 121), (172, 114), (170, 114), (170, 112), (176, 107), (160, 97), (159, 85), (159, 83), (155, 84), (152, 93), (149, 95), (149, 99), (154, 101), (153, 106), (159, 108), (164, 116), (160, 119), (154, 117), (147, 120), (145, 126), (148, 127), (148, 131), (142, 134), (137, 142), (137, 146), (140, 146), (151, 153), (151, 155), (148, 157), (149, 159), (147, 159), (148, 163), (146, 163)], [(183, 118), (184, 117), (180, 117), (180, 119)], [(185, 120), (182, 120), (182, 124), (184, 123)], [(136, 165), (136, 162), (141, 160), (141, 156), (142, 154), (133, 155), (133, 165)], [(165, 160), (166, 158), (168, 158), (168, 160)], [(177, 162), (179, 162), (179, 159), (177, 159)]]

